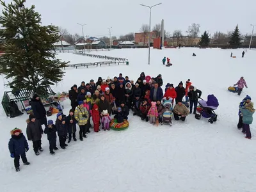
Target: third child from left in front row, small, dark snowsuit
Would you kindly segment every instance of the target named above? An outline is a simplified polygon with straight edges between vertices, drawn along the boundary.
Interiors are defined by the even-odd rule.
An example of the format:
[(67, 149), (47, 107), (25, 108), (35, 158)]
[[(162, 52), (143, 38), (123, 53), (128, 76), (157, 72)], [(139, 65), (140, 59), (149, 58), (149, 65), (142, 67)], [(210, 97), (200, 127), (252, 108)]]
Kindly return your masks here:
[(44, 129), (44, 133), (47, 134), (47, 140), (49, 141), (49, 149), (50, 149), (50, 154), (52, 156), (55, 155), (55, 152), (53, 150), (58, 150), (58, 148), (56, 147), (56, 126), (53, 124), (52, 120), (48, 120), (48, 125), (47, 127), (45, 127)]

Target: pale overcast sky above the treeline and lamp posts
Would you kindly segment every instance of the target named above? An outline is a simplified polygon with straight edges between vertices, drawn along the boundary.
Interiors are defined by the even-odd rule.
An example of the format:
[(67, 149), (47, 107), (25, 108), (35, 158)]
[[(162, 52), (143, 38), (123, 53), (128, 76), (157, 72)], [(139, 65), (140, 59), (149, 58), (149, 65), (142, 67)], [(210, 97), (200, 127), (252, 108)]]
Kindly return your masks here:
[[(6, 0), (10, 3), (11, 0)], [(186, 34), (188, 26), (195, 22), (200, 24), (200, 32), (209, 33), (220, 30), (231, 31), (236, 24), (241, 33), (252, 33), (256, 24), (256, 0), (27, 0), (26, 6), (35, 4), (41, 13), (43, 24), (54, 24), (67, 28), (69, 33), (81, 35), (104, 36), (108, 28), (115, 36), (129, 32), (140, 32), (141, 24), (149, 23), (149, 9), (140, 4), (154, 5), (151, 25), (161, 23), (164, 29), (174, 31), (181, 29)], [(2, 9), (2, 8), (1, 8)]]

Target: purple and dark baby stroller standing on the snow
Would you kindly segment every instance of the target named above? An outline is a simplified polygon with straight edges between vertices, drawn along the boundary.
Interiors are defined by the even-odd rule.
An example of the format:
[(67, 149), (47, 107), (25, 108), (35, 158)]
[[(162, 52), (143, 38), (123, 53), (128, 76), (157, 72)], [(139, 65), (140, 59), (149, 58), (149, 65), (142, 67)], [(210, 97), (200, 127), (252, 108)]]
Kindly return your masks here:
[(208, 95), (207, 100), (199, 100), (199, 106), (196, 108), (199, 114), (195, 118), (200, 120), (201, 116), (209, 118), (208, 122), (212, 124), (217, 121), (217, 115), (214, 112), (219, 106), (218, 99), (214, 95)]

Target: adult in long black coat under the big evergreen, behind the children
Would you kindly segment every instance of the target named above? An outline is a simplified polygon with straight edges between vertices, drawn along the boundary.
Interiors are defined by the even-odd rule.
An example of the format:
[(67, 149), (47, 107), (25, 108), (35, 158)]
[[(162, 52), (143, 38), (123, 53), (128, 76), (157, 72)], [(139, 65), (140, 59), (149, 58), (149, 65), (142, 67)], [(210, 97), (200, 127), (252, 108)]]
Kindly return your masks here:
[(30, 105), (36, 119), (40, 121), (41, 125), (45, 125), (46, 127), (47, 126), (46, 111), (38, 94), (34, 93), (32, 95), (32, 99), (30, 100)]

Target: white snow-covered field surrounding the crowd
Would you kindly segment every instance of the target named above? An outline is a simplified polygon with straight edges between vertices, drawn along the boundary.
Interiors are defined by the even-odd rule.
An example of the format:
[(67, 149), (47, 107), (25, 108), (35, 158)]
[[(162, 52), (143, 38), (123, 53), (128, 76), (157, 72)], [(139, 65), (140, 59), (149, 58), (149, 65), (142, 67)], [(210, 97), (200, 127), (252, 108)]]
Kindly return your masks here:
[[(191, 56), (193, 52), (196, 57)], [(230, 58), (230, 52), (237, 58)], [(129, 129), (91, 132), (84, 141), (72, 141), (67, 150), (58, 150), (55, 156), (49, 155), (49, 143), (44, 134), (44, 152), (35, 156), (32, 143), (29, 143), (27, 157), (31, 165), (21, 165), (20, 172), (16, 173), (8, 152), (10, 130), (19, 127), (26, 132), (25, 120), (28, 115), (7, 118), (2, 111), (1, 191), (256, 191), (256, 123), (254, 121), (251, 125), (252, 140), (246, 140), (236, 128), (239, 102), (246, 95), (252, 97), (252, 102), (256, 98), (256, 52), (248, 51), (241, 58), (242, 52), (243, 49), (152, 49), (150, 65), (147, 49), (90, 52), (128, 58), (129, 65), (68, 68), (63, 81), (52, 86), (55, 92), (67, 91), (81, 81), (97, 81), (99, 76), (118, 76), (120, 72), (134, 81), (141, 72), (154, 77), (162, 74), (164, 85), (173, 83), (177, 86), (180, 81), (185, 83), (191, 79), (193, 85), (202, 90), (203, 99), (207, 99), (211, 93), (218, 98), (218, 121), (209, 124), (207, 119), (196, 120), (194, 115), (189, 115), (186, 122), (173, 122), (172, 127), (156, 127), (141, 122), (138, 116), (130, 115)], [(171, 59), (172, 67), (163, 66), (161, 60), (164, 56)], [(71, 63), (99, 61), (71, 53), (59, 54), (58, 58)], [(239, 97), (228, 92), (227, 88), (241, 76), (244, 76), (248, 89), (244, 88)], [(0, 88), (4, 91), (6, 80), (1, 81)], [(65, 114), (70, 109), (69, 105), (67, 100)], [(50, 118), (55, 121), (56, 115)]]

